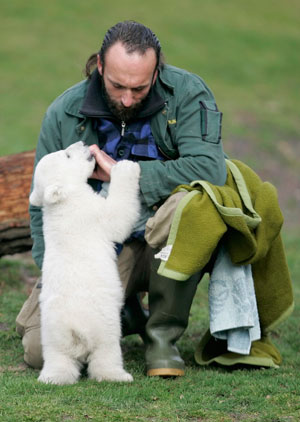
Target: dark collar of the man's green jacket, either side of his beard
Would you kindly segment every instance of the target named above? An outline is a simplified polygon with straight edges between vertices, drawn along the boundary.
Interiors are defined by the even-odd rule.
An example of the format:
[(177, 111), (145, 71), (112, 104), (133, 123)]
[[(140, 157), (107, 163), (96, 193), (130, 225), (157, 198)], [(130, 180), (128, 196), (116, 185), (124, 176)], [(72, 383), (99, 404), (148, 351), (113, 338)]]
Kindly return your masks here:
[[(109, 117), (110, 112), (103, 96), (102, 78), (97, 69), (92, 73), (85, 98), (80, 109), (80, 113), (88, 117)], [(138, 118), (148, 117), (159, 111), (165, 104), (165, 100), (156, 89), (156, 84), (151, 88), (143, 109), (138, 114)]]

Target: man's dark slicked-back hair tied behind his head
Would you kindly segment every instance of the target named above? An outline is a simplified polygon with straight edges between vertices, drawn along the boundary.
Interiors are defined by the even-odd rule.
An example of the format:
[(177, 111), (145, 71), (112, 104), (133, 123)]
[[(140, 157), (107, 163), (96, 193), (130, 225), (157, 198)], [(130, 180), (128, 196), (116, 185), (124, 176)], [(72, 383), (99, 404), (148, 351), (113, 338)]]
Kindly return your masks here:
[(156, 54), (156, 69), (163, 67), (164, 58), (161, 52), (159, 39), (145, 25), (135, 21), (119, 22), (106, 32), (101, 49), (98, 53), (92, 54), (85, 65), (85, 75), (90, 78), (92, 71), (97, 64), (99, 54), (102, 66), (105, 66), (105, 55), (107, 50), (117, 42), (121, 42), (128, 54), (138, 52), (141, 55), (149, 48), (153, 48)]

